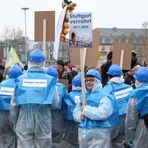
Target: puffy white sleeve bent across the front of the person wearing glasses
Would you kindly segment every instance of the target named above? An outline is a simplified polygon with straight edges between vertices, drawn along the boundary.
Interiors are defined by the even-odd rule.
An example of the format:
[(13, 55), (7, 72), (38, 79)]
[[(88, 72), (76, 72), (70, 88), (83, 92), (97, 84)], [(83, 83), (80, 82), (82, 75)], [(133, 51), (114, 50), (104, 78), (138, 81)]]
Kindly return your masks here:
[(102, 98), (98, 107), (86, 105), (83, 111), (83, 114), (91, 120), (104, 120), (109, 118), (112, 113), (113, 107), (108, 97)]

